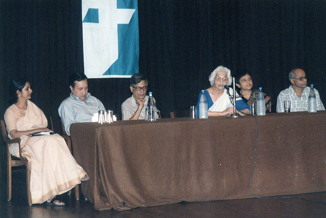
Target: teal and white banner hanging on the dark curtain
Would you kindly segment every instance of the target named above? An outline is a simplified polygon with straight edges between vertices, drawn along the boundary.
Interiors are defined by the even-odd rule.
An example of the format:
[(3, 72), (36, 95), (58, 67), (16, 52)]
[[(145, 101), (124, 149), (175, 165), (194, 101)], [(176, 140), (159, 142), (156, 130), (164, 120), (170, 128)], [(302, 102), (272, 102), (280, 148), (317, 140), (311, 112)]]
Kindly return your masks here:
[(84, 73), (130, 78), (138, 73), (137, 0), (82, 0)]

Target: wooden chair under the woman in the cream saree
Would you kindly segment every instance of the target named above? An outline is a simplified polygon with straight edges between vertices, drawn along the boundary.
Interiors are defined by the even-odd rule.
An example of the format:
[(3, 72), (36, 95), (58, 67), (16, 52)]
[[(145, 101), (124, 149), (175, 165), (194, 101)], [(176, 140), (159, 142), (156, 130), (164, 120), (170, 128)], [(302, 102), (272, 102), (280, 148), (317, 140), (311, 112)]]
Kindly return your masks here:
[[(20, 138), (10, 139), (7, 136), (4, 121), (0, 120), (0, 124), (1, 124), (2, 138), (3, 138), (4, 142), (6, 143), (6, 147), (7, 147), (7, 155), (6, 155), (7, 156), (7, 200), (8, 201), (11, 200), (11, 188), (12, 188), (12, 186), (11, 186), (11, 179), (12, 179), (11, 178), (11, 168), (15, 167), (15, 166), (25, 165), (26, 166), (27, 202), (28, 202), (28, 205), (32, 205), (32, 198), (31, 198), (30, 189), (29, 189), (30, 170), (29, 170), (29, 167), (28, 167), (27, 159), (22, 156), (21, 145), (20, 145), (21, 140), (20, 140)], [(18, 143), (20, 159), (18, 159), (16, 157), (11, 157), (11, 154), (9, 152), (9, 146), (12, 143)]]

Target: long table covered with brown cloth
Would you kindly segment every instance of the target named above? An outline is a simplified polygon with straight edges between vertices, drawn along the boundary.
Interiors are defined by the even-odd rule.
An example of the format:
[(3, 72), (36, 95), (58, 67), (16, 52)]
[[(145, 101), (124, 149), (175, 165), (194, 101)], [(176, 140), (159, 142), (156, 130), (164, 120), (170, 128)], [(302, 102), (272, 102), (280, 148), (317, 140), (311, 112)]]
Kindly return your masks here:
[(128, 210), (326, 191), (325, 124), (318, 111), (75, 123), (70, 133), (90, 177), (83, 195), (95, 209)]

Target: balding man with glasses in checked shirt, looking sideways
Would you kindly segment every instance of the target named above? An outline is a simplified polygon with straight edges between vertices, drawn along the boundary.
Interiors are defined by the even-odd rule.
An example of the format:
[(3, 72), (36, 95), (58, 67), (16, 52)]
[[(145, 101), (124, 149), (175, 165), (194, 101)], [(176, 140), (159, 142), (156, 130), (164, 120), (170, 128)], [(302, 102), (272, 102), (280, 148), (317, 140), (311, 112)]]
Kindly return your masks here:
[[(296, 68), (289, 73), (291, 85), (281, 91), (277, 97), (276, 112), (284, 112), (284, 101), (291, 101), (290, 111), (307, 111), (310, 87), (307, 87), (305, 72)], [(317, 110), (325, 110), (317, 89), (315, 89)]]

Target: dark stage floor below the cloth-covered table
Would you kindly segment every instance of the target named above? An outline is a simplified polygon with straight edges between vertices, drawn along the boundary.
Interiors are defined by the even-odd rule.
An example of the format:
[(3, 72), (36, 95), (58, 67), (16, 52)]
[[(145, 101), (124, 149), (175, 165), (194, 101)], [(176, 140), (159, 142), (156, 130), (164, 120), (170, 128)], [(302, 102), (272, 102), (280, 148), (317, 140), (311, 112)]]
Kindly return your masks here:
[[(292, 195), (297, 198), (235, 199), (206, 202), (181, 202), (157, 207), (135, 208), (128, 211), (97, 211), (89, 201), (76, 201), (74, 195), (63, 194), (59, 199), (65, 207), (44, 204), (27, 205), (25, 169), (14, 170), (13, 196), (6, 200), (6, 178), (0, 178), (0, 217), (9, 218), (322, 218), (326, 217), (326, 192)], [(3, 175), (3, 174), (2, 174)], [(5, 175), (4, 175), (5, 176)], [(23, 179), (24, 180), (24, 179)], [(2, 185), (3, 184), (3, 185)], [(18, 189), (18, 187), (21, 187)], [(24, 187), (24, 188), (22, 188)], [(21, 192), (19, 192), (21, 191)]]

